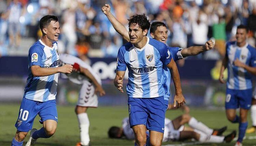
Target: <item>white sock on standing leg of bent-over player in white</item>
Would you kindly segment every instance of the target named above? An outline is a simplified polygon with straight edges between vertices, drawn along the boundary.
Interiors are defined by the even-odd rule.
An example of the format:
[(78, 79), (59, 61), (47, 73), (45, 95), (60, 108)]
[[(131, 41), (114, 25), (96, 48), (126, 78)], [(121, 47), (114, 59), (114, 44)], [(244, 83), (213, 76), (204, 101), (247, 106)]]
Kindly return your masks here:
[(87, 113), (80, 113), (77, 114), (77, 119), (79, 122), (79, 128), (80, 128), (80, 139), (82, 145), (88, 145), (90, 142), (89, 138), (89, 126), (90, 122), (88, 119)]

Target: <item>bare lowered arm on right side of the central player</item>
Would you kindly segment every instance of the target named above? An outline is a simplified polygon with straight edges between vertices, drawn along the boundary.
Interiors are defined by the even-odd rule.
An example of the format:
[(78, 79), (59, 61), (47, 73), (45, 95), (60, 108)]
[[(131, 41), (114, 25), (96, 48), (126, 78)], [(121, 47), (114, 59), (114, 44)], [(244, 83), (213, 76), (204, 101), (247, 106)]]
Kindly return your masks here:
[(176, 63), (173, 59), (171, 59), (170, 63), (167, 65), (167, 67), (170, 69), (172, 80), (175, 87), (175, 96), (174, 96), (174, 107), (176, 107), (176, 102), (178, 103), (178, 107), (183, 105), (185, 103), (185, 98), (182, 94), (181, 89), (181, 80), (180, 80), (180, 74), (178, 71), (178, 68), (176, 66)]

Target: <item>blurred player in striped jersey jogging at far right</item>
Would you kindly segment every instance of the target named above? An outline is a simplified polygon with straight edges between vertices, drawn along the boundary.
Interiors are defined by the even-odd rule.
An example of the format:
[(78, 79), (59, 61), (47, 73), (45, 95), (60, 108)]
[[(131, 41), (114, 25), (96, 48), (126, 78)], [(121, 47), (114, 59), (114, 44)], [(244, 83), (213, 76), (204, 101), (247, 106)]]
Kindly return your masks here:
[[(239, 123), (239, 135), (236, 146), (241, 146), (245, 130), (247, 128), (247, 112), (252, 103), (252, 75), (256, 70), (256, 50), (246, 42), (248, 29), (244, 25), (237, 27), (236, 41), (227, 42), (226, 55), (222, 61), (219, 81), (224, 84), (223, 72), (228, 68), (228, 80), (226, 90), (226, 115), (230, 122)], [(238, 67), (240, 60), (250, 69)], [(236, 109), (240, 107), (240, 116), (236, 115)]]

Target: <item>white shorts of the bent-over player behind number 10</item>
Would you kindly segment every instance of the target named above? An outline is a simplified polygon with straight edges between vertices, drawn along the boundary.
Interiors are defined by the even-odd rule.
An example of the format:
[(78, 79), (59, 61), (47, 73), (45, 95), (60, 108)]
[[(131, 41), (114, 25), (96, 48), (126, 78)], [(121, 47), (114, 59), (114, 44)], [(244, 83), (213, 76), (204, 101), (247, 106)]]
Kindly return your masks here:
[(94, 94), (95, 87), (92, 83), (85, 82), (79, 92), (78, 106), (98, 107), (98, 96)]

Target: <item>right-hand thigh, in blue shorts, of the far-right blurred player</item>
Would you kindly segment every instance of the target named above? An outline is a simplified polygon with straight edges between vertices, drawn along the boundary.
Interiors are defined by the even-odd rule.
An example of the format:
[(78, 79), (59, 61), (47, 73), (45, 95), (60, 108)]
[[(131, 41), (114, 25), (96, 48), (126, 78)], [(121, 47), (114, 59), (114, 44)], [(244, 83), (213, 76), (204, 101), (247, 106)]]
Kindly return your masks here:
[(252, 105), (252, 89), (240, 90), (238, 97), (240, 108), (249, 110)]

